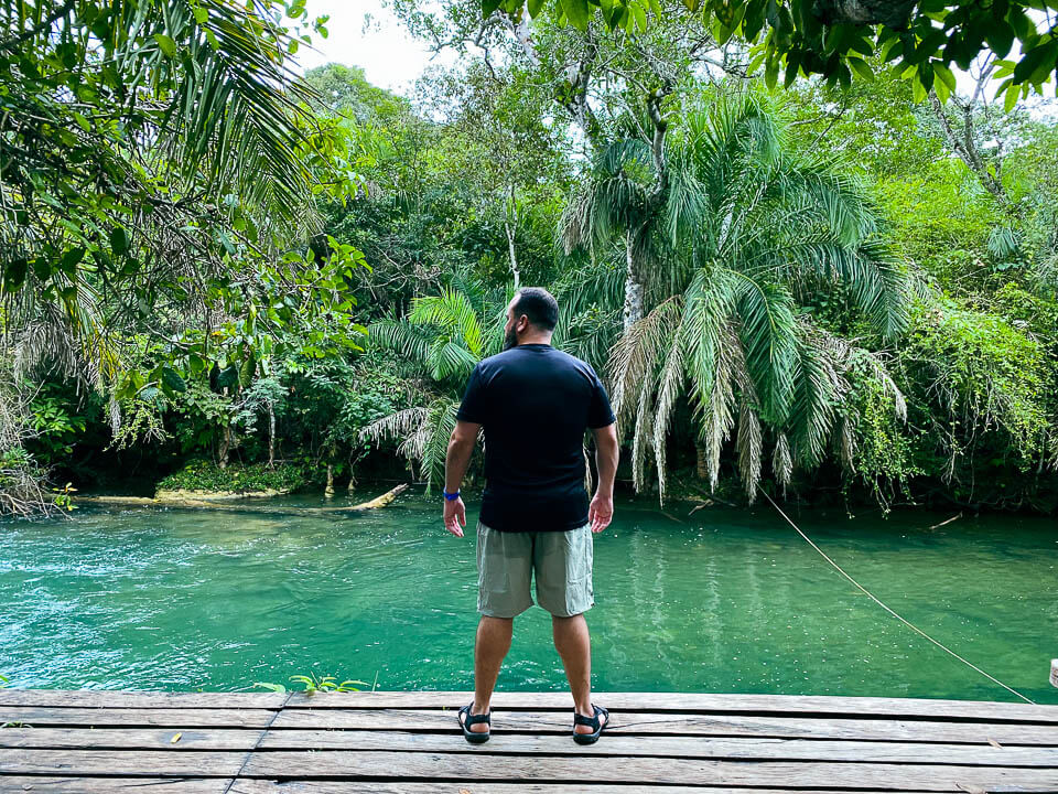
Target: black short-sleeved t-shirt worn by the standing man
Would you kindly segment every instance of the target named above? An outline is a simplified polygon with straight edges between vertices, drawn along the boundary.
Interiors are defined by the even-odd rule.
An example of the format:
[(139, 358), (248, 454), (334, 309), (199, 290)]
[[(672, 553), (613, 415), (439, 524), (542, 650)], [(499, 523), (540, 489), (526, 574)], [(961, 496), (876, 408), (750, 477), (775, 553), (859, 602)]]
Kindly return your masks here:
[(457, 418), (485, 428), (482, 524), (543, 532), (587, 523), (584, 430), (614, 422), (591, 365), (548, 344), (511, 347), (474, 367)]

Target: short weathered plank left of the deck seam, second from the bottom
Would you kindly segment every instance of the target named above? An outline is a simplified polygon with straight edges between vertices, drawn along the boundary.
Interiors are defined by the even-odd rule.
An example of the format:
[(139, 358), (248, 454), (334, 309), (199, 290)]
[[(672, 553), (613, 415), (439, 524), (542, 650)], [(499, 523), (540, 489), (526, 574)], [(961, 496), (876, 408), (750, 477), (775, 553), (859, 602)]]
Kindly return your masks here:
[[(407, 753), (406, 753), (407, 754)], [(234, 777), (245, 752), (179, 753), (156, 750), (0, 750), (0, 774), (108, 775), (111, 777)], [(277, 776), (277, 775), (272, 775)]]

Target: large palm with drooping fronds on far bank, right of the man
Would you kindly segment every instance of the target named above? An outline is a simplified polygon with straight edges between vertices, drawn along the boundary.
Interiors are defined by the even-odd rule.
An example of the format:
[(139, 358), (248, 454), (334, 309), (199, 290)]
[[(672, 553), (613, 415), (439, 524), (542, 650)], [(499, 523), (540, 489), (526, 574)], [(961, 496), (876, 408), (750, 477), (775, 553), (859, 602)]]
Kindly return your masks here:
[[(630, 161), (620, 162), (627, 171)], [(884, 337), (904, 329), (905, 273), (878, 242), (863, 191), (831, 167), (792, 154), (752, 94), (688, 112), (668, 139), (666, 170), (665, 203), (648, 224), (650, 247), (662, 253), (651, 309), (626, 325), (609, 356), (636, 487), (652, 453), (663, 498), (667, 436), (683, 397), (695, 409), (713, 487), (733, 433), (751, 498), (767, 441), (784, 487), (795, 464), (818, 464), (835, 434), (851, 461), (854, 438), (842, 410), (850, 372), (866, 371), (898, 393), (873, 356), (818, 328), (798, 305), (812, 291), (840, 290)], [(618, 190), (622, 179), (629, 181), (615, 175), (605, 190), (593, 189), (592, 228), (629, 217), (635, 191)]]

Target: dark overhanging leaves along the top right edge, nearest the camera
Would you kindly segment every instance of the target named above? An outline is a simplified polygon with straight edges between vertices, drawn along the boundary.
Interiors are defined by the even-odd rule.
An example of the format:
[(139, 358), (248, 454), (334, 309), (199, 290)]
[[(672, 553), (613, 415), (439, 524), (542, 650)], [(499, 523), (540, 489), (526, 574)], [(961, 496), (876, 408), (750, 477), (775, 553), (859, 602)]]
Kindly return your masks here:
[[(739, 36), (756, 44), (755, 63), (769, 86), (780, 72), (787, 86), (798, 74), (848, 86), (853, 76), (870, 79), (866, 60), (879, 55), (913, 79), (919, 100), (931, 88), (947, 97), (956, 89), (952, 64), (968, 69), (983, 51), (1005, 58), (1016, 41), (1021, 57), (1008, 62), (1000, 86), (1014, 100), (1041, 94), (1058, 66), (1054, 0), (689, 0), (688, 7), (717, 42)], [(658, 0), (485, 0), (482, 8), (486, 19), (499, 13), (522, 24), (546, 13), (581, 30), (597, 11), (609, 30), (629, 33), (663, 17)]]

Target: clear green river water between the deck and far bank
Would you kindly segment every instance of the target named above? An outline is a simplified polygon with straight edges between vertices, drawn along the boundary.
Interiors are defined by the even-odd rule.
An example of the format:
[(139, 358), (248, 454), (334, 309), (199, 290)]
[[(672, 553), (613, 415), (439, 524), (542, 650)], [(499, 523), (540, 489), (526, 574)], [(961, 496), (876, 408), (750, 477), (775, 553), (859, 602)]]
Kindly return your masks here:
[[(326, 518), (84, 508), (0, 524), (0, 674), (17, 687), (213, 690), (312, 670), (468, 689), (471, 511), (462, 540), (422, 496)], [(770, 508), (666, 512), (618, 504), (596, 538), (596, 688), (1014, 699), (855, 591)], [(913, 623), (1058, 704), (1047, 682), (1058, 528), (1014, 517), (928, 528), (947, 517), (797, 521)], [(539, 608), (516, 621), (499, 686), (564, 686)]]

